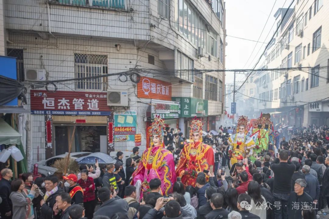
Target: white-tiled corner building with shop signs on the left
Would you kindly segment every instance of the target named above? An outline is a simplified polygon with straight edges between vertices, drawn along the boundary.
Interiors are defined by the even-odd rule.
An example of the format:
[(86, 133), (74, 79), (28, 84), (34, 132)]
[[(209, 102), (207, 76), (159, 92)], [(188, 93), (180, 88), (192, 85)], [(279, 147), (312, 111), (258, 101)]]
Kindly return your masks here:
[(197, 70), (225, 68), (223, 0), (4, 0), (4, 16), (29, 87), (32, 163), (70, 144), (145, 149), (155, 113), (185, 136), (194, 116), (218, 127), (224, 74)]

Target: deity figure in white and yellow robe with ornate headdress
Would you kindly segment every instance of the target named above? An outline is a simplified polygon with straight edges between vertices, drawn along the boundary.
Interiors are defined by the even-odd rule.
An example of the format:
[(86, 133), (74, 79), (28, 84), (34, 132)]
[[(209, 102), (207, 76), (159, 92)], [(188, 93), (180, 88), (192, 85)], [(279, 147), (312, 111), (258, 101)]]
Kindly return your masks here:
[(257, 137), (252, 134), (251, 128), (247, 131), (249, 120), (247, 116), (240, 116), (238, 120), (237, 133), (230, 136), (229, 155), (231, 157), (230, 167), (238, 162), (238, 156), (242, 155), (243, 158), (252, 155), (253, 148), (255, 147), (254, 139)]

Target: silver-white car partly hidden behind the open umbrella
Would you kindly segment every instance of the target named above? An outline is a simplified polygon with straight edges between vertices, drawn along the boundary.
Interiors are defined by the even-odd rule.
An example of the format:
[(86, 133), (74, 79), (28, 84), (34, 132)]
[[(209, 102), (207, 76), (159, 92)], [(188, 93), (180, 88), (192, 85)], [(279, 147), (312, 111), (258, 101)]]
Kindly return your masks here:
[[(90, 152), (73, 152), (73, 153), (70, 154), (70, 157), (72, 159), (78, 159), (80, 157), (84, 157), (84, 156), (87, 156), (89, 154), (91, 154), (91, 153)], [(38, 173), (40, 173), (43, 177), (47, 176), (49, 173), (50, 173), (50, 175), (54, 174), (57, 171), (57, 169), (52, 167), (52, 165), (55, 163), (56, 160), (62, 159), (64, 157), (66, 157), (66, 155), (67, 155), (67, 153), (57, 155), (57, 156), (54, 156), (54, 157), (49, 158), (47, 160), (37, 162), (37, 164), (38, 164)]]

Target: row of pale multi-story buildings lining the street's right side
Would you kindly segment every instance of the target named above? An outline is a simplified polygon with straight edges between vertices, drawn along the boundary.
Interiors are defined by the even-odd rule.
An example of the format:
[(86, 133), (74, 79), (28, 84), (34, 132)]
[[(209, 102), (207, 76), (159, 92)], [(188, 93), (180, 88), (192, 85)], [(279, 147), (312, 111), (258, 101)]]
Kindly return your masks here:
[(278, 26), (284, 20), (269, 43), (262, 68), (296, 70), (253, 76), (259, 99), (255, 110), (271, 113), (276, 124), (329, 124), (328, 14), (329, 4), (316, 0), (297, 1), (293, 9), (280, 8), (274, 15)]

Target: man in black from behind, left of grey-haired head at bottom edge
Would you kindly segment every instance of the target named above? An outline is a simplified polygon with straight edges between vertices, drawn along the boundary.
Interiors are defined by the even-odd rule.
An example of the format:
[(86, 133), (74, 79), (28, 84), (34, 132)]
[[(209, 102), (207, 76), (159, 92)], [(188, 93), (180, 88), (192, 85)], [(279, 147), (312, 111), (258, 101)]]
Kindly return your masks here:
[(206, 215), (206, 219), (227, 218), (230, 213), (223, 209), (224, 197), (220, 193), (214, 193), (210, 198), (210, 206), (213, 209)]

